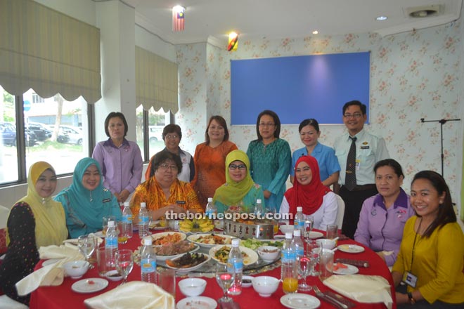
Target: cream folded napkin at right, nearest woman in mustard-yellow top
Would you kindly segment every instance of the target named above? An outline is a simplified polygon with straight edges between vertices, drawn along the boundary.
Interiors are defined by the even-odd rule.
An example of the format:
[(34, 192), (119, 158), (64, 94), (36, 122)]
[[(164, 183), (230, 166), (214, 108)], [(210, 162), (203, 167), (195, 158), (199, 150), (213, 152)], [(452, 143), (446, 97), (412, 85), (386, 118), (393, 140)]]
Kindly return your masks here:
[(323, 284), (359, 303), (385, 303), (392, 308), (392, 294), (389, 282), (380, 276), (333, 275)]

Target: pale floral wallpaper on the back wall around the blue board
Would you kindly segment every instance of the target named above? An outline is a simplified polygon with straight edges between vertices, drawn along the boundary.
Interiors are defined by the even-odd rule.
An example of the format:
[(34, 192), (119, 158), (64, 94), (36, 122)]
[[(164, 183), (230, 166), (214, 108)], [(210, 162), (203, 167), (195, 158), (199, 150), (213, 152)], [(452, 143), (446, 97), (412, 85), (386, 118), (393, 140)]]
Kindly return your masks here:
[[(345, 34), (240, 40), (238, 51), (233, 52), (207, 43), (176, 46), (180, 79), (176, 123), (185, 131), (181, 147), (193, 154), (195, 145), (204, 140), (212, 114), (221, 114), (229, 123), (231, 59), (370, 51), (370, 124), (365, 129), (385, 138), (390, 156), (403, 166), (403, 187), (408, 192), (414, 173), (423, 169), (441, 172), (440, 124), (420, 119), (462, 116), (460, 28), (459, 22), (452, 22), (387, 37)], [(337, 112), (341, 117), (342, 111)], [(460, 192), (462, 128), (459, 121), (443, 126), (444, 176), (452, 194)], [(230, 139), (245, 151), (257, 138), (254, 126), (231, 126), (229, 130)], [(343, 131), (343, 125), (321, 125), (319, 141), (332, 147)], [(292, 151), (302, 147), (297, 125), (282, 126), (281, 138), (288, 140)]]

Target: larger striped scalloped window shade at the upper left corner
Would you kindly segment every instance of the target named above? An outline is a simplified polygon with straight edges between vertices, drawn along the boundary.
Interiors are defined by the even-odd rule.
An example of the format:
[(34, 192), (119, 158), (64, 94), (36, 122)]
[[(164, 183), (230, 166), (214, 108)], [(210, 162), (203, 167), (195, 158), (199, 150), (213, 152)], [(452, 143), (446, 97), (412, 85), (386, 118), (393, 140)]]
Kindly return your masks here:
[(101, 98), (100, 30), (31, 0), (0, 0), (0, 84), (20, 96)]

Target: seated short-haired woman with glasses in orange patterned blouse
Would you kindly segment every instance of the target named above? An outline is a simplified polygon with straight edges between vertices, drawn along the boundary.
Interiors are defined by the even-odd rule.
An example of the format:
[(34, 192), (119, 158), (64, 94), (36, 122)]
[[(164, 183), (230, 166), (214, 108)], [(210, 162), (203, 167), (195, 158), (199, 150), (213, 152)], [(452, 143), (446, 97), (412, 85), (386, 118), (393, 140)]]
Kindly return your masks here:
[(177, 179), (182, 170), (179, 156), (163, 150), (153, 157), (155, 175), (146, 182), (138, 185), (131, 199), (131, 210), (135, 215), (140, 210), (140, 203), (145, 202), (147, 209), (152, 211), (152, 219), (157, 220), (165, 216), (167, 211), (172, 213), (201, 212), (195, 191), (190, 183)]

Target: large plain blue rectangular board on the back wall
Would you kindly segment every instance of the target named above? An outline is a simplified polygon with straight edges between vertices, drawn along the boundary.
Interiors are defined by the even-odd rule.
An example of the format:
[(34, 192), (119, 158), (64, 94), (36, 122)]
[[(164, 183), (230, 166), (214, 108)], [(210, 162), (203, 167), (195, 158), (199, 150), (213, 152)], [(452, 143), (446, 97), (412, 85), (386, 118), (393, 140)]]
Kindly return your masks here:
[(282, 124), (342, 124), (344, 103), (369, 107), (369, 74), (369, 52), (231, 60), (231, 124), (256, 124), (263, 110)]

